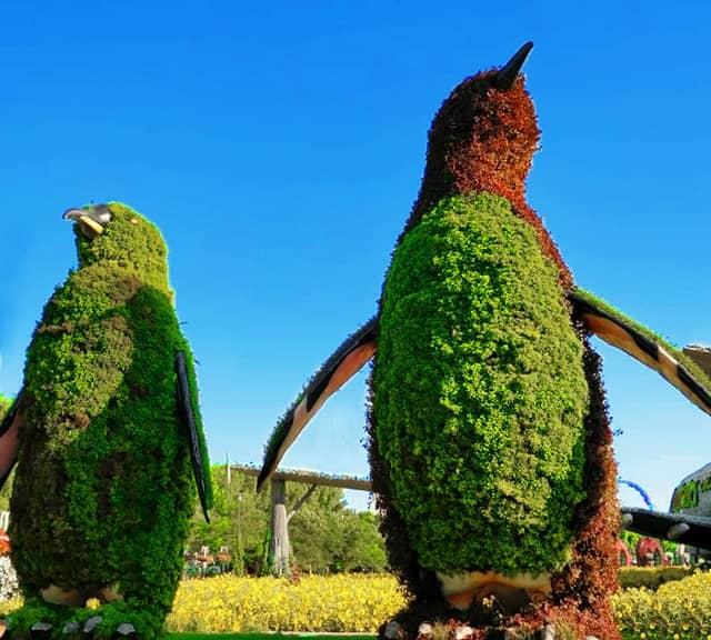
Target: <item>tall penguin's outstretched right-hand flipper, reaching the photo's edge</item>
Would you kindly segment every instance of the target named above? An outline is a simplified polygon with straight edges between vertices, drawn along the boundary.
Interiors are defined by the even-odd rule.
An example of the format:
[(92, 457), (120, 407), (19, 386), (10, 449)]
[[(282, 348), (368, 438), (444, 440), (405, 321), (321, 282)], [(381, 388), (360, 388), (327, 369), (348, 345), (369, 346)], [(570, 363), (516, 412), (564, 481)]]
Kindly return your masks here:
[(588, 291), (574, 289), (568, 301), (573, 319), (590, 333), (657, 371), (711, 416), (711, 380), (691, 358)]

